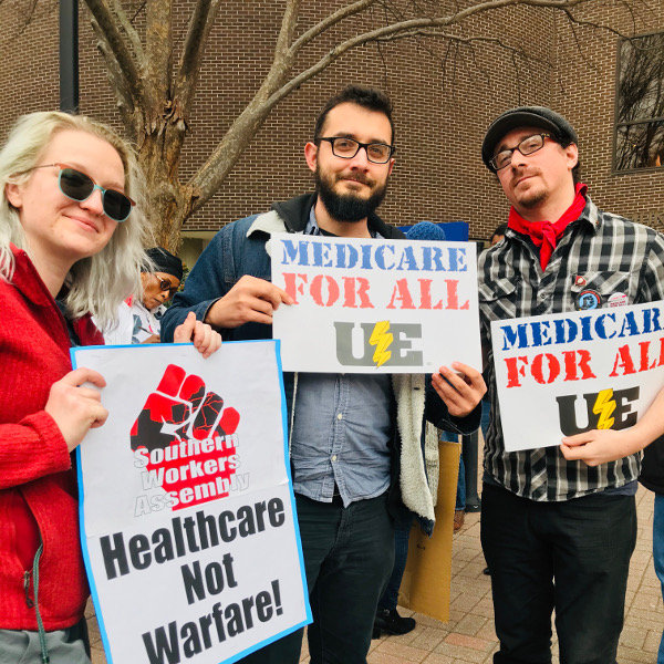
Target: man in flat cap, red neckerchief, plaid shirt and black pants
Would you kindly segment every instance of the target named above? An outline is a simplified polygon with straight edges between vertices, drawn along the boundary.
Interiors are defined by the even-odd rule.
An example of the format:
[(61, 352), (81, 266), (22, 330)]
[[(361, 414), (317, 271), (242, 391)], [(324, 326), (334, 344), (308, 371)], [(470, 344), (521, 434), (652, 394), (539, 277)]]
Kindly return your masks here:
[(507, 453), (490, 323), (662, 300), (664, 237), (598, 209), (579, 181), (577, 132), (550, 108), (498, 116), (481, 156), (511, 204), (505, 240), (478, 267), (491, 401), (481, 542), (500, 640), (494, 662), (550, 663), (554, 611), (561, 663), (613, 664), (639, 455), (590, 467), (557, 446)]

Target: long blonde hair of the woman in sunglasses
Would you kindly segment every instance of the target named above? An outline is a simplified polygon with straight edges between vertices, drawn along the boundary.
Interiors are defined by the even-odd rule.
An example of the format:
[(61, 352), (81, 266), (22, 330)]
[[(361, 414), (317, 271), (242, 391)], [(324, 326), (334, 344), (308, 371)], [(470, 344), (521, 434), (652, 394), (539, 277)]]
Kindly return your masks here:
[(65, 280), (68, 314), (75, 320), (92, 313), (103, 326), (116, 318), (117, 308), (125, 298), (141, 292), (139, 274), (146, 266), (143, 247), (147, 243), (147, 220), (143, 212), (144, 178), (136, 155), (126, 141), (97, 121), (49, 111), (23, 115), (11, 129), (0, 151), (0, 278), (11, 281), (13, 277), (10, 242), (30, 256), (19, 211), (7, 199), (7, 185), (25, 183), (52, 137), (68, 129), (87, 132), (115, 148), (124, 168), (125, 194), (136, 201), (132, 214), (117, 225), (104, 249), (76, 261)]

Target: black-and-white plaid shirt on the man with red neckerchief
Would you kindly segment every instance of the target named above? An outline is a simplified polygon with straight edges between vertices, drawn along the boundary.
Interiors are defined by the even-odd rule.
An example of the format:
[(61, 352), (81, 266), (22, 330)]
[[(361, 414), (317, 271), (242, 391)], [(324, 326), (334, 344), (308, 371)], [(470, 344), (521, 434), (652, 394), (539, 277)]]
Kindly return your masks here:
[(530, 238), (508, 229), (502, 242), (480, 256), (478, 281), (491, 401), (485, 474), (513, 494), (538, 501), (569, 500), (636, 479), (640, 455), (591, 468), (583, 461), (568, 461), (558, 446), (505, 452), (490, 323), (574, 311), (587, 289), (600, 294), (600, 307), (608, 307), (611, 294), (626, 295), (627, 304), (664, 299), (664, 236), (599, 210), (587, 198), (583, 212), (566, 228), (543, 272)]

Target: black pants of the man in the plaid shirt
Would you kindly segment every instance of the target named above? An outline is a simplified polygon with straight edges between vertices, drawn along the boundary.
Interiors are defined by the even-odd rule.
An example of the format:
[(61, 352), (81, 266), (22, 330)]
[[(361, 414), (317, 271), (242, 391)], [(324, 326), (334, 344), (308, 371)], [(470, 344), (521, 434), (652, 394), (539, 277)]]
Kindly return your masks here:
[(496, 664), (549, 664), (556, 611), (561, 664), (614, 664), (630, 558), (633, 496), (535, 502), (484, 485), (481, 544), (491, 570)]

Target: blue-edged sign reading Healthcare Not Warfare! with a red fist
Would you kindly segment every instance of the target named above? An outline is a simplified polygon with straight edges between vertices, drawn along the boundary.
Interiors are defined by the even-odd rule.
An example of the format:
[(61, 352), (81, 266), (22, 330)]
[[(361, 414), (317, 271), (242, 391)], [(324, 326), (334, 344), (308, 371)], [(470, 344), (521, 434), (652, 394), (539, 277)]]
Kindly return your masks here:
[(107, 661), (230, 663), (311, 622), (279, 342), (72, 357), (106, 380), (79, 485)]

